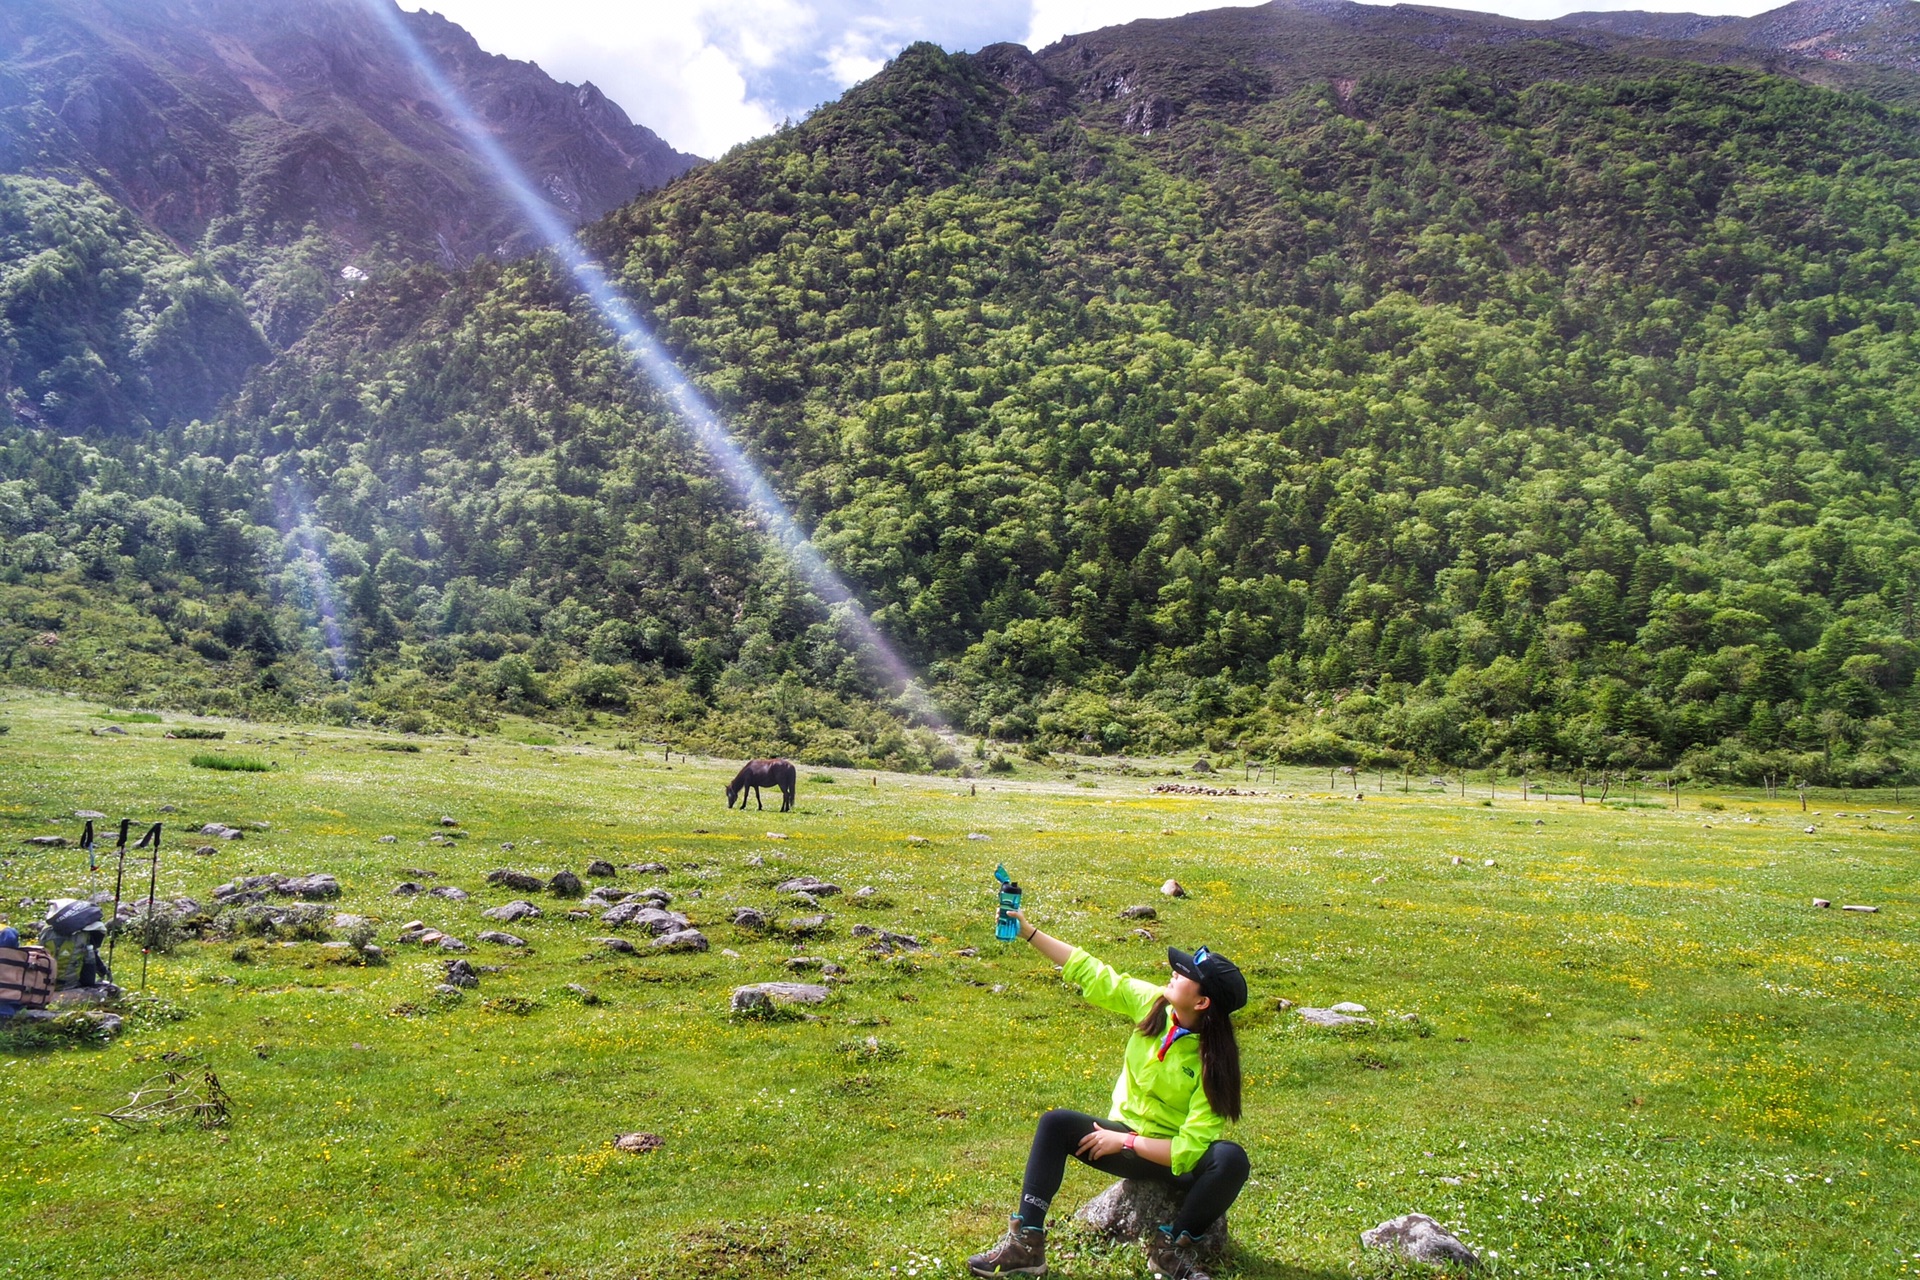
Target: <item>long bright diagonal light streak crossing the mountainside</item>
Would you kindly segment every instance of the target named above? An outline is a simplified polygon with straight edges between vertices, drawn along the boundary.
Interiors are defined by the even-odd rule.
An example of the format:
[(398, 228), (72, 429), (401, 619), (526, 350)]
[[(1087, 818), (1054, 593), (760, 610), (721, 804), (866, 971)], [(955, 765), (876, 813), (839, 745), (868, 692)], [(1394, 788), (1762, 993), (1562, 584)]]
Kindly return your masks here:
[(707, 403), (701, 390), (680, 370), (674, 357), (653, 336), (632, 303), (612, 286), (601, 265), (580, 248), (572, 230), (541, 200), (526, 180), (526, 175), (520, 173), (520, 167), (507, 155), (505, 148), (501, 148), (480, 117), (474, 115), (472, 107), (467, 106), (459, 90), (440, 73), (434, 59), (413, 38), (413, 33), (407, 31), (399, 8), (392, 0), (363, 0), (363, 4), (388, 31), (396, 48), (413, 63), (420, 81), (440, 100), (447, 117), (488, 163), (493, 180), (520, 209), (520, 215), (540, 236), (553, 259), (599, 313), (601, 322), (612, 332), (612, 338), (634, 368), (666, 397), (674, 415), (712, 461), (714, 470), (728, 482), (741, 505), (756, 514), (766, 530), (785, 547), (795, 566), (812, 581), (814, 591), (831, 606), (831, 614), (845, 620), (858, 643), (874, 654), (887, 677), (899, 685), (906, 704), (920, 718), (943, 725), (945, 720), (933, 708), (914, 668), (879, 633), (879, 628), (874, 626), (874, 620), (858, 597), (854, 597), (852, 587), (826, 562), (820, 549), (814, 547), (812, 539), (793, 518), (793, 512), (787, 510), (787, 505), (774, 491), (774, 486), (768, 484), (764, 472), (733, 441), (732, 434), (720, 422), (720, 415)]

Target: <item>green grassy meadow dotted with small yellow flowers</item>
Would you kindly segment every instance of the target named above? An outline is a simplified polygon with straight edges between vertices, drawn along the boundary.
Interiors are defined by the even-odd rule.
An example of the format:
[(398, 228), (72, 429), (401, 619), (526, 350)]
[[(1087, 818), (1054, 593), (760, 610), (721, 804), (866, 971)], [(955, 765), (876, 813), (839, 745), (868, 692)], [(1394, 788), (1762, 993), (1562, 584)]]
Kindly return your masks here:
[[(1832, 796), (1803, 816), (1740, 793), (1715, 793), (1720, 812), (1692, 793), (1678, 812), (1509, 793), (1482, 808), (1484, 789), (1356, 802), (1283, 771), (1258, 798), (1200, 798), (1075, 762), (1075, 781), (829, 771), (791, 814), (741, 814), (720, 794), (737, 762), (434, 737), (399, 756), (371, 733), (248, 725), (240, 745), (280, 762), (259, 789), (188, 768), (159, 729), (92, 737), (75, 700), (0, 710), (15, 921), (36, 913), (21, 900), (111, 889), (73, 848), (21, 844), (94, 808), (169, 833), (248, 827), (209, 856), (169, 837), (159, 892), (328, 871), (390, 958), (186, 942), (150, 960), (157, 1000), (121, 1040), (0, 1042), (0, 1276), (102, 1255), (169, 1280), (956, 1276), (1018, 1196), (1033, 1117), (1102, 1109), (1125, 1034), (993, 942), (996, 862), (1037, 923), (1121, 967), (1154, 975), (1162, 944), (1206, 942), (1248, 971), (1236, 1138), (1254, 1182), (1223, 1276), (1384, 1274), (1357, 1236), (1407, 1211), (1463, 1234), (1492, 1276), (1920, 1272), (1920, 823), (1884, 796), (1843, 816)], [(547, 894), (524, 894), (540, 919), (505, 925), (528, 948), (476, 942), (495, 927), (480, 912), (522, 896), (486, 871), (593, 858), (666, 864), (618, 883), (668, 889), (714, 950), (616, 954)], [(831, 933), (804, 944), (728, 923), (735, 906), (789, 913), (774, 885), (799, 873), (874, 885), (885, 906), (831, 898)], [(1192, 896), (1160, 898), (1167, 877)], [(407, 879), (472, 898), (390, 896)], [(1117, 919), (1139, 902), (1160, 908), (1154, 944)], [(436, 994), (440, 956), (394, 940), (415, 917), (501, 969)], [(870, 954), (862, 921), (927, 950)], [(849, 967), (820, 1021), (728, 1015), (735, 984), (789, 977), (795, 954)], [(119, 965), (138, 975), (127, 948)], [(1379, 1025), (1317, 1031), (1279, 1000), (1356, 1000)], [(219, 1073), (228, 1128), (100, 1119), (180, 1061)], [(664, 1148), (614, 1151), (628, 1130)], [(1069, 1171), (1062, 1211), (1100, 1186)], [(1071, 1230), (1050, 1263), (1142, 1274)]]

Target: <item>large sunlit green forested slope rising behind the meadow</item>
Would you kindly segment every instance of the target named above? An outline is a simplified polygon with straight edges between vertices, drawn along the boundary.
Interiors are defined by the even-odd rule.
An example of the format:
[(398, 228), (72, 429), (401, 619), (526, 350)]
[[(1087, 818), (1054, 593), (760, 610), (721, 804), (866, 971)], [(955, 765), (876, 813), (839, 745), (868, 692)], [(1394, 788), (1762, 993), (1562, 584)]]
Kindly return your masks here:
[[(1344, 8), (912, 48), (591, 244), (966, 729), (1899, 773), (1920, 121), (1532, 29), (1396, 61), (1327, 35)], [(1277, 71), (1313, 48), (1321, 79)], [(401, 679), (442, 718), (651, 687), (637, 714), (900, 750), (538, 263), (363, 292), (169, 447), (142, 466), (202, 526), (330, 566), (361, 714)], [(69, 572), (219, 581), (177, 535), (140, 568), (115, 462), (27, 453), (98, 495)], [(27, 528), (44, 608), (81, 532)]]

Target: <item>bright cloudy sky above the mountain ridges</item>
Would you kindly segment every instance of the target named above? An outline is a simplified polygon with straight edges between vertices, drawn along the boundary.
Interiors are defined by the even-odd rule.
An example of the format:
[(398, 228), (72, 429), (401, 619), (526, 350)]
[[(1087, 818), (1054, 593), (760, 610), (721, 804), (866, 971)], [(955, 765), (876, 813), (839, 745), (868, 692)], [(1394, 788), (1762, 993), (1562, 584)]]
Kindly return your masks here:
[[(803, 119), (914, 40), (1039, 50), (1064, 35), (1175, 17), (1235, 0), (399, 0), (480, 46), (593, 81), (682, 152), (716, 157)], [(1786, 0), (1469, 0), (1448, 8), (1559, 17), (1582, 10), (1761, 13)]]

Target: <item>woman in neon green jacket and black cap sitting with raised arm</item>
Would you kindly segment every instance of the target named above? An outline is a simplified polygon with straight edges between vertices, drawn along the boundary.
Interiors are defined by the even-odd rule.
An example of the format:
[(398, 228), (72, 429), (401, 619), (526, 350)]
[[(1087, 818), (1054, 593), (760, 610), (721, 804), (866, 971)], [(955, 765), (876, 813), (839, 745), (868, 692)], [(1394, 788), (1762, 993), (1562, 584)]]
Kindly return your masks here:
[(1116, 1178), (1152, 1178), (1185, 1196), (1173, 1222), (1148, 1232), (1146, 1265), (1165, 1280), (1208, 1280), (1196, 1242), (1246, 1186), (1246, 1151), (1221, 1140), (1240, 1119), (1240, 1046), (1233, 1013), (1246, 979), (1225, 956), (1167, 948), (1173, 977), (1154, 986), (1020, 921), (1020, 936), (1094, 1006), (1133, 1021), (1108, 1119), (1048, 1111), (1033, 1134), (1020, 1211), (1006, 1240), (968, 1259), (975, 1276), (1044, 1276), (1046, 1209), (1068, 1155)]

